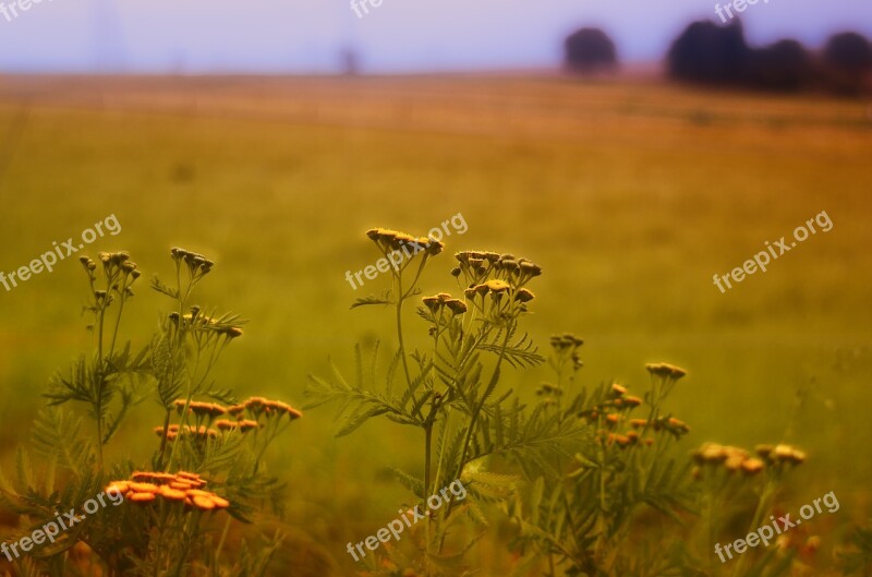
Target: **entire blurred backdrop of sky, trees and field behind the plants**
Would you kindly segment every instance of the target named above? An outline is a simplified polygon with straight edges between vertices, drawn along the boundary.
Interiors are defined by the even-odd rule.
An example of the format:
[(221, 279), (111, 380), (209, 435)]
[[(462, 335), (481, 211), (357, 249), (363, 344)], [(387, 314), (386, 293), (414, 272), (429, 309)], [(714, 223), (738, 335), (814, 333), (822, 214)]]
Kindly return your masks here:
[[(355, 342), (396, 346), (388, 314), (349, 310), (387, 288), (344, 278), (378, 256), (364, 231), (462, 214), (425, 292), (457, 291), (458, 250), (531, 259), (526, 328), (543, 351), (583, 337), (583, 384), (641, 390), (645, 362), (674, 362), (688, 450), (809, 452), (786, 501), (841, 503), (815, 521), (819, 569), (872, 515), (864, 0), (758, 2), (741, 21), (701, 0), (21, 1), (0, 4), (0, 271), (112, 214), (121, 232), (87, 254), (128, 250), (168, 278), (171, 247), (203, 252), (201, 304), (251, 320), (219, 384), (302, 406), (328, 358), (348, 371)], [(713, 285), (823, 211), (831, 231)], [(90, 342), (85, 296), (72, 257), (0, 289), (2, 470)], [(122, 330), (142, 346), (169, 303), (143, 283), (132, 306)], [(528, 394), (548, 376), (509, 378)], [(146, 462), (158, 413), (141, 406), (116, 456)], [(334, 431), (307, 411), (272, 455), (300, 575), (351, 574), (346, 542), (408, 498), (386, 468), (420, 468), (393, 425)], [(483, 575), (499, 572), (505, 543), (482, 543)]]

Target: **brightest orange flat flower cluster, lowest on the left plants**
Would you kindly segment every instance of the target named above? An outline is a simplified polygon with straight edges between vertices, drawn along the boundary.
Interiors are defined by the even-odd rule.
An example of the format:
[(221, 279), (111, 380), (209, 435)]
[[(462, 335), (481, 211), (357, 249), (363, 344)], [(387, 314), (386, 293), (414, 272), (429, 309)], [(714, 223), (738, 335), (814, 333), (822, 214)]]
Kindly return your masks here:
[(148, 504), (161, 497), (170, 503), (183, 503), (187, 508), (199, 510), (226, 509), (230, 502), (210, 491), (204, 491), (206, 480), (199, 474), (186, 471), (165, 473), (135, 471), (130, 480), (112, 481), (107, 492), (124, 495), (133, 503)]

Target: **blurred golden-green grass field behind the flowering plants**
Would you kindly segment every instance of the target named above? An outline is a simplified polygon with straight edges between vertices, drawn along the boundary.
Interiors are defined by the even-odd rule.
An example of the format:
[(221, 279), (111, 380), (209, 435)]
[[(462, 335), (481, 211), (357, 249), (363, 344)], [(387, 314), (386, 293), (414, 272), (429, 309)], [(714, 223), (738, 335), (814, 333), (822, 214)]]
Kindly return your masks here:
[[(583, 383), (642, 386), (645, 362), (675, 362), (689, 371), (673, 401), (692, 428), (688, 450), (782, 440), (808, 450), (784, 501), (839, 496), (809, 529), (826, 555), (872, 516), (870, 136), (862, 100), (635, 79), (7, 76), (0, 271), (111, 214), (122, 231), (92, 256), (128, 250), (166, 278), (171, 247), (203, 252), (217, 262), (203, 304), (251, 321), (219, 384), (301, 406), (328, 357), (348, 369), (355, 341), (391, 334), (389, 315), (349, 310), (385, 288), (344, 280), (378, 256), (363, 232), (424, 235), (462, 213), (469, 230), (446, 239), (434, 263), (445, 274), (425, 292), (455, 289), (457, 250), (532, 259), (544, 274), (525, 326), (542, 348), (552, 333), (582, 336)], [(727, 293), (714, 287), (713, 274), (822, 211), (829, 232)], [(48, 378), (89, 341), (84, 290), (72, 257), (0, 289), (4, 470)], [(166, 302), (142, 284), (122, 328), (144, 345)], [(545, 371), (508, 378), (532, 390)], [(128, 422), (125, 456), (148, 458), (156, 414), (141, 406)], [(344, 543), (405, 498), (384, 470), (416, 467), (420, 440), (387, 424), (332, 431), (331, 411), (307, 411), (271, 457), (300, 546), (349, 575)], [(483, 575), (505, 564), (495, 531), (476, 554)], [(307, 555), (293, 558), (319, 566)]]

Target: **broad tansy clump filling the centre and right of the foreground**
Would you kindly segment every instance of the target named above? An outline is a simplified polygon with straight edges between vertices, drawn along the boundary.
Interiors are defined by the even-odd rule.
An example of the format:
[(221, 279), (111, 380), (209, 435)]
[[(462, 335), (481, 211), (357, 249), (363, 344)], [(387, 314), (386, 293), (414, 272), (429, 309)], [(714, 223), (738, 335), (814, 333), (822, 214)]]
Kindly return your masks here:
[[(715, 445), (690, 452), (683, 445), (690, 425), (667, 408), (687, 372), (647, 364), (649, 386), (638, 393), (618, 383), (585, 386), (578, 378), (583, 341), (572, 334), (550, 339), (556, 380), (540, 386), (535, 402), (521, 400), (505, 374), (546, 361), (520, 328), (542, 269), (511, 254), (457, 253), (450, 273), (457, 296), (421, 299), (420, 332), (426, 328), (429, 345), (410, 348), (403, 311), (444, 247), (387, 229), (367, 237), (384, 255), (410, 242), (426, 248), (391, 272), (380, 297), (352, 305), (391, 308), (397, 350), (383, 369), (378, 346), (364, 359), (358, 345), (355, 380), (335, 366), (331, 377), (312, 376), (308, 406), (336, 405), (339, 436), (379, 416), (419, 430), (420, 468), (396, 471), (415, 510), (426, 512), (427, 496), (453, 480), (469, 496), (427, 512), (423, 528), (412, 528), (413, 534), (421, 528), (416, 551), (404, 540), (379, 548), (380, 562), (361, 560), (365, 575), (469, 574), (467, 554), (497, 509), (514, 526), (512, 575), (776, 577), (789, 570), (790, 552), (747, 553), (727, 567), (713, 546), (729, 538), (737, 519), (754, 525), (772, 510), (790, 469), (806, 458), (800, 449), (764, 446), (758, 457)], [(748, 507), (753, 515), (742, 516)]]

